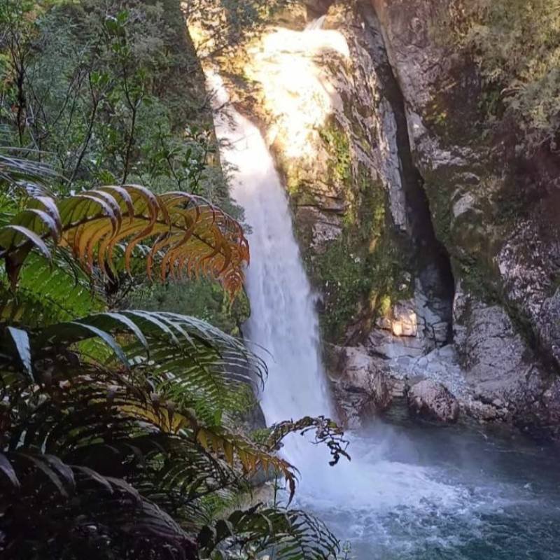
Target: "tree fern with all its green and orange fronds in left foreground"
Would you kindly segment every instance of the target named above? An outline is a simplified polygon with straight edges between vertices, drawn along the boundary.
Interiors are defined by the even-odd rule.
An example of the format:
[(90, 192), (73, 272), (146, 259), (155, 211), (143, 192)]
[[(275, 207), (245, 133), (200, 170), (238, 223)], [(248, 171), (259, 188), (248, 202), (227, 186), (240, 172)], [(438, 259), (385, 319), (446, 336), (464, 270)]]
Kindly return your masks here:
[(297, 469), (276, 454), (280, 440), (314, 430), (334, 464), (347, 456), (337, 426), (305, 418), (249, 439), (232, 418), (254, 404), (266, 367), (241, 340), (104, 301), (107, 281), (141, 263), (160, 279), (220, 279), (235, 296), (249, 259), (239, 224), (197, 197), (139, 186), (25, 200), (0, 228), (2, 557), (335, 554), (304, 512), (255, 505), (215, 519), (206, 504), (258, 472), (285, 478), (291, 499)]

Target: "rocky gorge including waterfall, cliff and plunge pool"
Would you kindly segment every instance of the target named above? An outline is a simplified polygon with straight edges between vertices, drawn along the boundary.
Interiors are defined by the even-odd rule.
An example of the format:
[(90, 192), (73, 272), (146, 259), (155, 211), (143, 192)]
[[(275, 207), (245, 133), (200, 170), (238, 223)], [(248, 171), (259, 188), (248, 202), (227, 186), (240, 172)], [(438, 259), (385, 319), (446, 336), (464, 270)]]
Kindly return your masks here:
[[(502, 215), (507, 146), (477, 145), (463, 113), (477, 109), (461, 96), (480, 84), (430, 42), (437, 10), (309, 4), (207, 78), (252, 228), (244, 335), (266, 349), (267, 423), (334, 412), (350, 430), (352, 462), (333, 470), (286, 442), (297, 503), (362, 560), (556, 558), (556, 455), (539, 459), (537, 479), (531, 444), (514, 435), (559, 430), (554, 235), (538, 240), (551, 279), (531, 293), (538, 315), (516, 252), (538, 235), (548, 193), (522, 223)], [(505, 432), (489, 439), (479, 426)]]

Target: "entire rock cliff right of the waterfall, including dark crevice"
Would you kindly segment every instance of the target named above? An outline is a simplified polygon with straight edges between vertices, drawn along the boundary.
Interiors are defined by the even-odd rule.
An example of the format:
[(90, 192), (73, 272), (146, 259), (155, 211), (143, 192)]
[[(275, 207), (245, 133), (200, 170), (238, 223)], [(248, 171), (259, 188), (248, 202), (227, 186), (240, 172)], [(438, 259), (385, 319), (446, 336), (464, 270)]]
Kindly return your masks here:
[(430, 379), (558, 437), (560, 165), (482, 135), (476, 66), (433, 38), (448, 4), (309, 1), (230, 81), (286, 182), (342, 417)]

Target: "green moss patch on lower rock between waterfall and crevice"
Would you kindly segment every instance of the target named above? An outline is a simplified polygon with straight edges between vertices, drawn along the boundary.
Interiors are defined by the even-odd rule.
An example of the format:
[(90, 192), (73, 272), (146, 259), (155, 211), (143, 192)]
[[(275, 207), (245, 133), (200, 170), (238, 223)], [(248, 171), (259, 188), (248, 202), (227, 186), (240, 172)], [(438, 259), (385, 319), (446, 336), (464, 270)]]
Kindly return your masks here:
[(333, 343), (345, 342), (351, 325), (358, 338), (369, 332), (377, 317), (413, 290), (412, 279), (405, 280), (407, 258), (393, 237), (381, 182), (361, 169), (352, 186), (342, 235), (309, 262), (324, 297), (321, 332)]

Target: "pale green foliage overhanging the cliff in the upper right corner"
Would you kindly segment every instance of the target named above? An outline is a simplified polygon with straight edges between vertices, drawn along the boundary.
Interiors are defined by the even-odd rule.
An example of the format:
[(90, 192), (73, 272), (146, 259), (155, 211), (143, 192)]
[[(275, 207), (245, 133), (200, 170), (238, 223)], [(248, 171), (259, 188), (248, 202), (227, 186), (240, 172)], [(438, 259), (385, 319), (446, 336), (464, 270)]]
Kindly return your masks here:
[(560, 127), (560, 2), (456, 1), (446, 14), (456, 45), (482, 71), (484, 109), (510, 111), (533, 146), (557, 148)]

